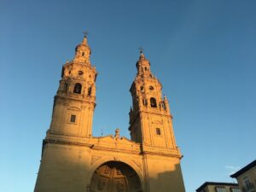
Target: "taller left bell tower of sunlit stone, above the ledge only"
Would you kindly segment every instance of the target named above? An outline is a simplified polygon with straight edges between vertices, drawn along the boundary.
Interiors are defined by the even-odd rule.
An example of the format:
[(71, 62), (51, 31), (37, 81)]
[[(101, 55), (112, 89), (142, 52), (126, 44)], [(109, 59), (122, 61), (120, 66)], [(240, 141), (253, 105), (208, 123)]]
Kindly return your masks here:
[(90, 137), (96, 107), (96, 67), (90, 64), (87, 37), (75, 49), (73, 61), (62, 67), (49, 134)]

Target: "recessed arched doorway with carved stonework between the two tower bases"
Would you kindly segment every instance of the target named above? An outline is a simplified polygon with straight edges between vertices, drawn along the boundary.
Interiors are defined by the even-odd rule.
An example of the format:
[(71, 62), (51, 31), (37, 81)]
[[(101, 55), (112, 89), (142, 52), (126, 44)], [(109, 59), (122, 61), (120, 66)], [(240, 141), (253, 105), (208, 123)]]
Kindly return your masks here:
[(90, 181), (90, 192), (143, 192), (142, 183), (131, 166), (108, 161), (99, 166)]

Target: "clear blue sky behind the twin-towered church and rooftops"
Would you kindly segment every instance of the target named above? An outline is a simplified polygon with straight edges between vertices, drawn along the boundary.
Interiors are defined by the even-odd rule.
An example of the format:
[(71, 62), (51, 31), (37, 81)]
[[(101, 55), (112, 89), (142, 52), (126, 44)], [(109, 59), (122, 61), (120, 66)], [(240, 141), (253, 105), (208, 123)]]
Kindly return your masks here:
[(255, 159), (256, 1), (0, 0), (0, 191), (32, 191), (61, 66), (88, 31), (94, 136), (129, 137), (138, 48), (169, 98), (187, 192)]

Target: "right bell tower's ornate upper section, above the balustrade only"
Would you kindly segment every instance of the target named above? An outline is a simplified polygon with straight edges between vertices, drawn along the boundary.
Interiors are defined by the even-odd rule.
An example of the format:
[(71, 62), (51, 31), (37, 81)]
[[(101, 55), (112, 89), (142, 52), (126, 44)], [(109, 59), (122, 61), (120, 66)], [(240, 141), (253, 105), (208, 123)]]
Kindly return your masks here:
[(143, 146), (176, 148), (172, 115), (162, 84), (150, 71), (150, 63), (141, 52), (136, 64), (137, 76), (131, 85), (133, 108), (130, 111), (131, 140)]

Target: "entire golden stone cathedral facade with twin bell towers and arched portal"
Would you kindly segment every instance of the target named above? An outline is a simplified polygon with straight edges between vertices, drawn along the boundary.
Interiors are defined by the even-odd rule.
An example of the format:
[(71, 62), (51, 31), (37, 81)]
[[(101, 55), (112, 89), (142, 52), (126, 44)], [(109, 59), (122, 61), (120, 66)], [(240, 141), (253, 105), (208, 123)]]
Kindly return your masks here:
[(169, 102), (143, 52), (130, 89), (131, 140), (119, 129), (92, 136), (97, 73), (90, 53), (84, 37), (62, 67), (34, 191), (184, 192)]

